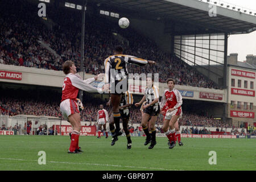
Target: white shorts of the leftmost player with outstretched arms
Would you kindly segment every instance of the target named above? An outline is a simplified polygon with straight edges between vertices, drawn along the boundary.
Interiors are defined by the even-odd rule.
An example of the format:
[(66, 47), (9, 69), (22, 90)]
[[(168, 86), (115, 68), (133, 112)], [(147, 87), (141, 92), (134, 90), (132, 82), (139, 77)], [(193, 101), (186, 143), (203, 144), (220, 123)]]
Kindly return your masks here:
[(71, 114), (80, 113), (79, 106), (75, 100), (66, 99), (60, 103), (60, 111), (63, 114), (64, 119), (68, 121), (68, 117)]

